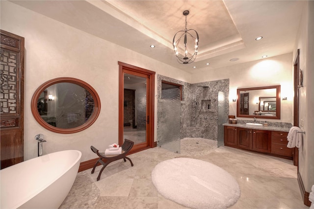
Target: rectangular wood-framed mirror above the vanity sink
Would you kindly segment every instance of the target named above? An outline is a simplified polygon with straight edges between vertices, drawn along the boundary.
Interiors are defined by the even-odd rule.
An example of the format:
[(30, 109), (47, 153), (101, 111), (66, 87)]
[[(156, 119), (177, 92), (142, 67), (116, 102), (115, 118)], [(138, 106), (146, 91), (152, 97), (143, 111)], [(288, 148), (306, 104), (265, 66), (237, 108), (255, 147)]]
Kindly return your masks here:
[(236, 116), (280, 119), (280, 85), (237, 89)]

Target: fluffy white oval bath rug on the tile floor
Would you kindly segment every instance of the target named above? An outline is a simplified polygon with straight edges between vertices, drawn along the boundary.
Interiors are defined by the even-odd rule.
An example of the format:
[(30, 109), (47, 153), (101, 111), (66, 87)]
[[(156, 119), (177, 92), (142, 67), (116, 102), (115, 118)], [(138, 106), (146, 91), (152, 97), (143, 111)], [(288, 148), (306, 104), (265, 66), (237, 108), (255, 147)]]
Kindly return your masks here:
[(201, 160), (175, 158), (158, 163), (152, 182), (165, 198), (194, 209), (225, 209), (241, 191), (227, 171)]

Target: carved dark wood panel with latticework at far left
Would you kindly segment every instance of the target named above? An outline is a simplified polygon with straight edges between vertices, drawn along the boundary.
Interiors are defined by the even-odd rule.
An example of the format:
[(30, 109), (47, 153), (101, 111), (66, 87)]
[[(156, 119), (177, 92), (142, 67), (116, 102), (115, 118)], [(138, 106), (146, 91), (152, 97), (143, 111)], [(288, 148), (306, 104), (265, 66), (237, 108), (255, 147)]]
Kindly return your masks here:
[(24, 38), (1, 30), (1, 169), (24, 160)]

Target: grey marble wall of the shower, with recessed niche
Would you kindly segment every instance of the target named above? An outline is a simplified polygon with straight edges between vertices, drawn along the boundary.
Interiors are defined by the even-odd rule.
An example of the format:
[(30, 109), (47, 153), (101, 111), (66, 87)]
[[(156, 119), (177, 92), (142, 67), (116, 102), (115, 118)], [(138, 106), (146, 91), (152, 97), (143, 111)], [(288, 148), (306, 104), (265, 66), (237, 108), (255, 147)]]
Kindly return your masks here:
[[(189, 84), (173, 78), (157, 75), (158, 100), (161, 99), (161, 81), (182, 85), (181, 139), (204, 138), (217, 140), (218, 92), (226, 97), (226, 120), (229, 114), (229, 79)], [(162, 114), (157, 109), (157, 127)], [(157, 128), (157, 139), (158, 139)]]

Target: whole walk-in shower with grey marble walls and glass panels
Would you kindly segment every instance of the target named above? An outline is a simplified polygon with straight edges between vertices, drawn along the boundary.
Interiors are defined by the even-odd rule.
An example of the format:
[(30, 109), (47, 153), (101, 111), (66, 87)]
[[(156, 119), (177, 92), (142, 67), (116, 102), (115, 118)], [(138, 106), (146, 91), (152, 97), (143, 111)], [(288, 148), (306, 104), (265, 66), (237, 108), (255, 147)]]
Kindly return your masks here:
[[(182, 88), (162, 87), (164, 80)], [(211, 139), (223, 145), (228, 97), (229, 79), (189, 84), (158, 75), (157, 146), (180, 153), (184, 138)]]

